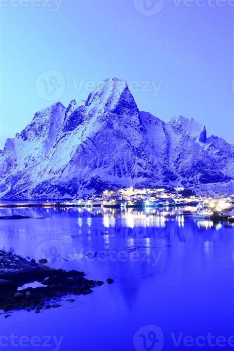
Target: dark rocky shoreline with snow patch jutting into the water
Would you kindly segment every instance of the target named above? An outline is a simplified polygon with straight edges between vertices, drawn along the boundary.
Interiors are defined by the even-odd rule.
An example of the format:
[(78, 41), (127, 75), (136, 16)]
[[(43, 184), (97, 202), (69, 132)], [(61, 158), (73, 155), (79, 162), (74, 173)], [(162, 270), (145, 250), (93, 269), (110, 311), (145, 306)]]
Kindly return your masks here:
[[(39, 313), (43, 309), (60, 307), (62, 298), (72, 303), (75, 300), (69, 295), (90, 294), (92, 288), (104, 283), (86, 279), (82, 271), (53, 269), (45, 263), (46, 260), (36, 263), (0, 250), (0, 309), (4, 313), (19, 309)], [(39, 286), (33, 287), (35, 282)], [(107, 282), (110, 284), (113, 280), (109, 278)], [(18, 290), (19, 287), (23, 288)]]

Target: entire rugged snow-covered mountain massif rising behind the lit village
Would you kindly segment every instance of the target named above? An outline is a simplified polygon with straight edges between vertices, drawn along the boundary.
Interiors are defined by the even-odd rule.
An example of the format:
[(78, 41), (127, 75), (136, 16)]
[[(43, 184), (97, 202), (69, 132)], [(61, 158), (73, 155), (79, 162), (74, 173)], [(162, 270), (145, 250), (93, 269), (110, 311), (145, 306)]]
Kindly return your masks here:
[(0, 198), (62, 199), (162, 184), (205, 191), (218, 183), (230, 191), (233, 154), (233, 145), (207, 138), (193, 119), (165, 123), (140, 112), (126, 82), (107, 79), (86, 101), (53, 104), (6, 140)]

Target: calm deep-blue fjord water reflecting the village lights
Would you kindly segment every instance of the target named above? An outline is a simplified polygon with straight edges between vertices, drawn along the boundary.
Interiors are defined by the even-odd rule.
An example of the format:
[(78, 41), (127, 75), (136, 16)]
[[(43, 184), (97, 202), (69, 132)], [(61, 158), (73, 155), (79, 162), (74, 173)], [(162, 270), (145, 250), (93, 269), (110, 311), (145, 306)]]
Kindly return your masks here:
[[(195, 221), (181, 211), (0, 209), (0, 216), (33, 217), (0, 220), (0, 248), (115, 281), (39, 314), (0, 315), (0, 335), (6, 337), (0, 350), (16, 350), (7, 339), (11, 333), (41, 340), (38, 347), (17, 350), (220, 350), (214, 339), (213, 347), (207, 341), (188, 347), (184, 337), (234, 335), (234, 227)], [(136, 334), (142, 327), (147, 344)], [(150, 349), (152, 328), (158, 342)], [(221, 349), (234, 349), (225, 345)]]

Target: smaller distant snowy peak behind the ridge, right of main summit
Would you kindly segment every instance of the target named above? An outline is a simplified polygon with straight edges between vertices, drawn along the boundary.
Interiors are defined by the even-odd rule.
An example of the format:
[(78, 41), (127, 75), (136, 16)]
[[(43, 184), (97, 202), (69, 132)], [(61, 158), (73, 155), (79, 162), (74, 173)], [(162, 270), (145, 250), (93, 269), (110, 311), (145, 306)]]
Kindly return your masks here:
[(196, 122), (194, 118), (186, 118), (184, 116), (172, 117), (169, 124), (179, 132), (190, 136), (196, 141), (206, 142), (206, 129), (204, 125)]

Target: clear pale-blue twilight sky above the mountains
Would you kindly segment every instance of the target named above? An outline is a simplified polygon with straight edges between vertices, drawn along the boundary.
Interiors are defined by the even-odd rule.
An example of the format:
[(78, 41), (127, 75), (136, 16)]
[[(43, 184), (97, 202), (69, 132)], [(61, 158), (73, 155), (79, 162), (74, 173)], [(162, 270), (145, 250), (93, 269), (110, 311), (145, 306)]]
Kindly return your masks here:
[[(206, 2), (205, 2), (206, 1)], [(140, 110), (234, 142), (234, 0), (1, 0), (0, 148), (59, 100), (125, 79)]]

